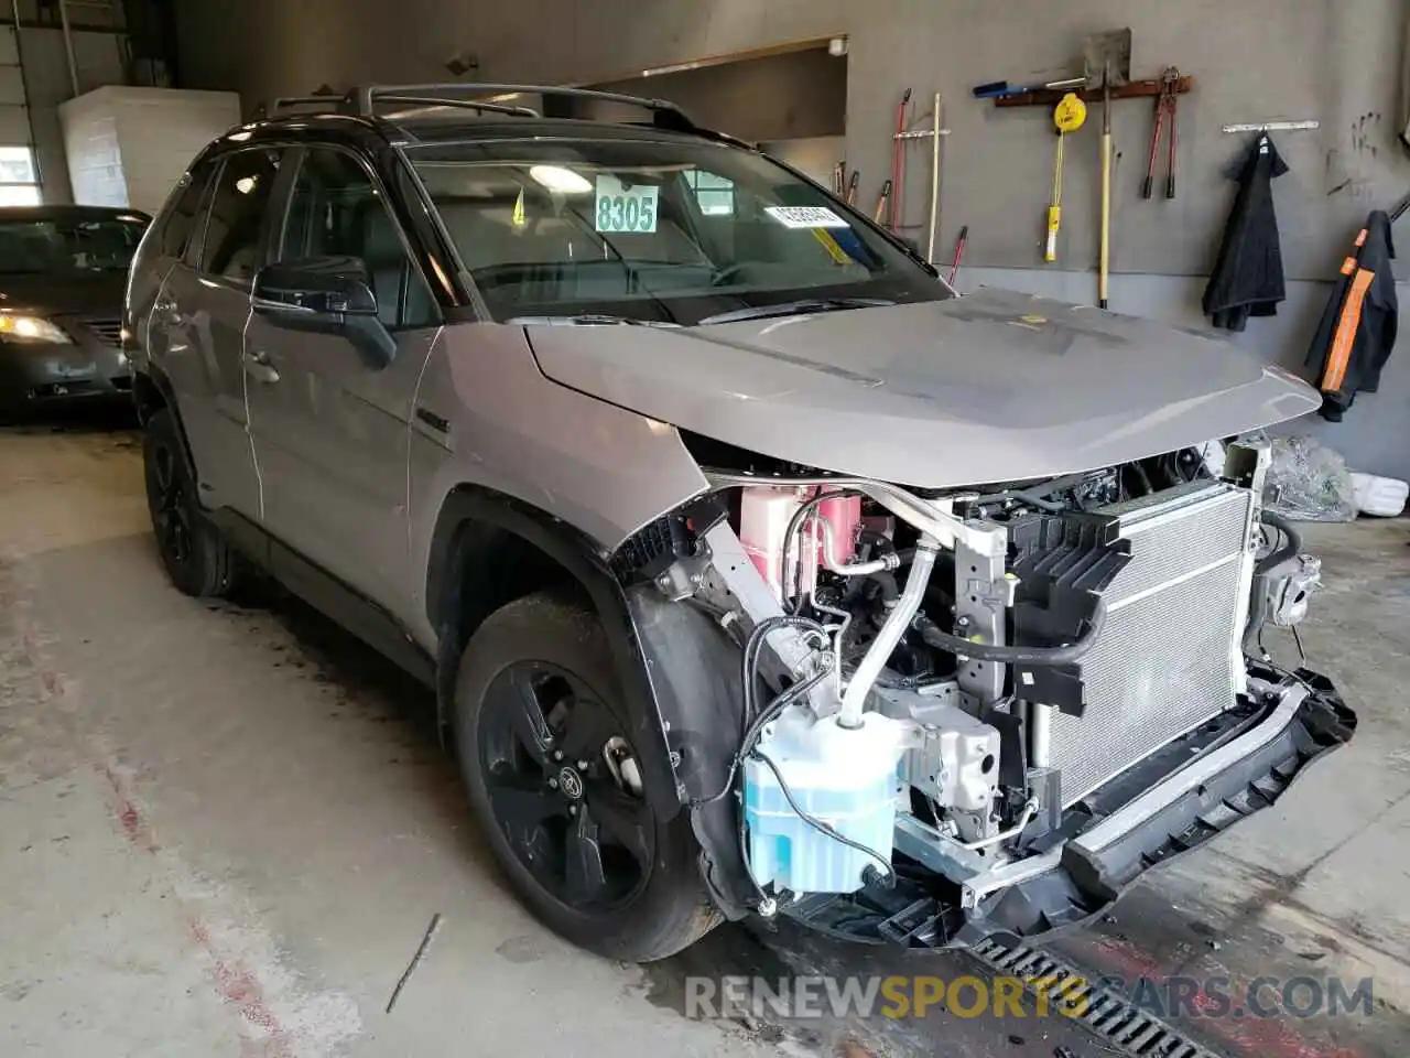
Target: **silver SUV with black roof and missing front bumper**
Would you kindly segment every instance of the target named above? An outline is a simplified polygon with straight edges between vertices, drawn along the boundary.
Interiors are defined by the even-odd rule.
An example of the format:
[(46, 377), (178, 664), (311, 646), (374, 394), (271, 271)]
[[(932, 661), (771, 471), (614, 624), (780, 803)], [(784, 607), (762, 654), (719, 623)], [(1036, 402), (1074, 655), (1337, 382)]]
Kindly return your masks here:
[(1261, 646), (1317, 581), (1266, 450), (1203, 447), (1308, 387), (960, 298), (667, 103), (282, 100), (124, 324), (171, 580), (262, 570), (433, 686), (522, 899), (613, 958), (1036, 937), (1355, 726)]

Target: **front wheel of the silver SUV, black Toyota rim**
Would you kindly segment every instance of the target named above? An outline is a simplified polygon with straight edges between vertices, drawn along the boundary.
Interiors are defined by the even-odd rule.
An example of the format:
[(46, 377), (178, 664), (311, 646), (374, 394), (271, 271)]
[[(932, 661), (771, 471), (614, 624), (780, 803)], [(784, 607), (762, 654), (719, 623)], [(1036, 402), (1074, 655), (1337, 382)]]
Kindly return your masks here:
[[(622, 739), (627, 721), (606, 635), (581, 604), (550, 595), (510, 602), (461, 657), (461, 772), (519, 899), (581, 948), (651, 962), (694, 944), (719, 916), (701, 882), (689, 815), (663, 822), (642, 796)], [(606, 763), (609, 746), (629, 753), (618, 769)]]

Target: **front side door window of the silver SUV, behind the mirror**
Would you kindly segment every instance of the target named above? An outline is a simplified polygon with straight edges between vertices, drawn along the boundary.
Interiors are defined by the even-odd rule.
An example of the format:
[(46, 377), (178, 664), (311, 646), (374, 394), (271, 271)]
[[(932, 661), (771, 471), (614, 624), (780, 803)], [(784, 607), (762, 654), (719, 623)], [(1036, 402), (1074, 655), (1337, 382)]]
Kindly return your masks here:
[(423, 327), (436, 306), (402, 243), (396, 219), (358, 161), (310, 148), (289, 199), (279, 258), (355, 257), (367, 267), (378, 315), (389, 327)]

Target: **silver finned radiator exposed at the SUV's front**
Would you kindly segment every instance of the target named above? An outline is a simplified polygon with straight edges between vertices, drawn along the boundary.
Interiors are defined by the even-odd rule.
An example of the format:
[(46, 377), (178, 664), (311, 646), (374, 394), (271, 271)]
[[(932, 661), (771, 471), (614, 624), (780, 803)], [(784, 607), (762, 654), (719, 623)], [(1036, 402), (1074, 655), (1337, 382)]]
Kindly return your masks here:
[(1245, 490), (1201, 482), (1101, 512), (1132, 557), (1103, 591), (1107, 624), (1081, 662), (1084, 714), (1052, 718), (1065, 804), (1234, 705), (1251, 504)]

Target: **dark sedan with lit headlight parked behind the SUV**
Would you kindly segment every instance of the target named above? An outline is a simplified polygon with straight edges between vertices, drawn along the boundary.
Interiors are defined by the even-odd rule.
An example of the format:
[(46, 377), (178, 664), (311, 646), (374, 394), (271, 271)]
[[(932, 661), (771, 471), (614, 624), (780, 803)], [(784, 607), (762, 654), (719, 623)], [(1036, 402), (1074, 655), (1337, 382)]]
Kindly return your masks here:
[(131, 391), (123, 292), (149, 223), (99, 206), (0, 209), (0, 418)]

